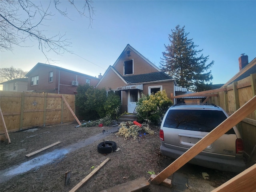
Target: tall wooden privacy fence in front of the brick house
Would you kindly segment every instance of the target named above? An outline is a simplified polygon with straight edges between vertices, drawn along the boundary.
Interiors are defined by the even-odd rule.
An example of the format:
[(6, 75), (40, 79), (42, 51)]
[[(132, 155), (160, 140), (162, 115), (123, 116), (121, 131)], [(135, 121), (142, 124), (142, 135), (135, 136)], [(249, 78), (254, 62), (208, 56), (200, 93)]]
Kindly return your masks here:
[[(74, 121), (62, 96), (75, 111), (75, 95), (0, 91), (0, 108), (8, 132)], [(0, 133), (4, 133), (2, 120)]]

